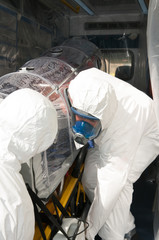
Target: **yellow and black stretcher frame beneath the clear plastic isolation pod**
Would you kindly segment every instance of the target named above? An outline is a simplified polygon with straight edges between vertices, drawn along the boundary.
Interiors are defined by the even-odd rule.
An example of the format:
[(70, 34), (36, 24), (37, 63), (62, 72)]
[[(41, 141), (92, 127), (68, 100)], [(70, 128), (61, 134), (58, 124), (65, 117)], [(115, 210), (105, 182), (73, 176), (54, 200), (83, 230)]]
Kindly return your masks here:
[(63, 189), (58, 192), (58, 186), (49, 196), (47, 204), (27, 185), (35, 211), (34, 240), (85, 239), (89, 201), (81, 184), (81, 176), (87, 148), (85, 146), (80, 150), (64, 176)]

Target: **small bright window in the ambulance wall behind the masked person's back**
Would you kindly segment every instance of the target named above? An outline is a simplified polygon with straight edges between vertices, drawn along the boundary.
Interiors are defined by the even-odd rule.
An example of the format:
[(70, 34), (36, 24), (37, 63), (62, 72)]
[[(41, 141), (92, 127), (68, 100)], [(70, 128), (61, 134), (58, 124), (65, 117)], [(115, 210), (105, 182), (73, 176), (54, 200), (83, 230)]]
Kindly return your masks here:
[(134, 72), (134, 55), (130, 50), (102, 50), (106, 72), (129, 81)]

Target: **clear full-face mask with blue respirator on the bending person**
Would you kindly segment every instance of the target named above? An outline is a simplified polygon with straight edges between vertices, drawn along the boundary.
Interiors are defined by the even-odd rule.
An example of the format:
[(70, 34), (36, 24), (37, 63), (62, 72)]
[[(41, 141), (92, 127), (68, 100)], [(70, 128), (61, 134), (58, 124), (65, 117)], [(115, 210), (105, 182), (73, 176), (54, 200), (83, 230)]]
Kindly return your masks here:
[(82, 110), (72, 107), (67, 90), (65, 91), (65, 98), (71, 113), (71, 128), (74, 140), (81, 145), (89, 143), (91, 146), (93, 139), (97, 138), (101, 131), (100, 120)]

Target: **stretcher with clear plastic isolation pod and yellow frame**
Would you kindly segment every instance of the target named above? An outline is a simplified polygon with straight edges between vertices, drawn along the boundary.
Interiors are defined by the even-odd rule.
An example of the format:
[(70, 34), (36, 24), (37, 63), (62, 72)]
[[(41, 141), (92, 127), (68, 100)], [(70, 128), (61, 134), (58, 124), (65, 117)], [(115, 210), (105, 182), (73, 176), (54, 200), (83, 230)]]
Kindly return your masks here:
[(21, 169), (34, 205), (34, 240), (85, 239), (89, 202), (81, 176), (87, 146), (76, 150), (64, 91), (81, 70), (90, 67), (101, 67), (100, 50), (85, 39), (72, 38), (0, 78), (1, 99), (15, 90), (31, 88), (49, 98), (57, 111), (54, 143)]

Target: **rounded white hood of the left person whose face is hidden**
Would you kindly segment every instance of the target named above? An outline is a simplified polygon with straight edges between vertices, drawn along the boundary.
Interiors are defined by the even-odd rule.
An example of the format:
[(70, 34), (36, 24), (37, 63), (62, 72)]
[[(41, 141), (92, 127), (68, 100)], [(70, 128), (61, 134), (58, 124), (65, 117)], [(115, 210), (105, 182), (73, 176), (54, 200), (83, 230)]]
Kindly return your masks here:
[(52, 103), (31, 89), (10, 94), (0, 104), (0, 164), (20, 170), (20, 164), (46, 150), (57, 133)]

